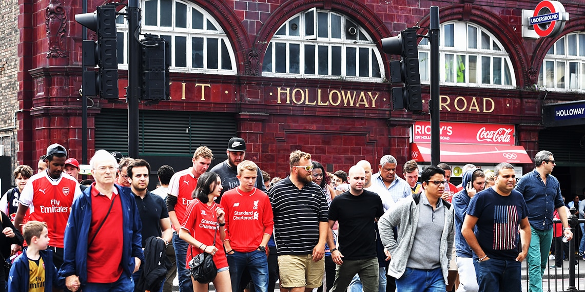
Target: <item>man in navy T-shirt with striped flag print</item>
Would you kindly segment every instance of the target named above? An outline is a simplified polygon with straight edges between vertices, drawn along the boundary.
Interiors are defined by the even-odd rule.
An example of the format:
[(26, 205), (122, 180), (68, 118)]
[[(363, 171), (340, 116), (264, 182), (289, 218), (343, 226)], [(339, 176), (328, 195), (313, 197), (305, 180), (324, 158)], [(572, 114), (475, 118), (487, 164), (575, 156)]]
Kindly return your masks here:
[(521, 262), (531, 236), (528, 208), (522, 194), (514, 190), (514, 166), (498, 164), (494, 175), (495, 185), (470, 201), (462, 234), (473, 249), (479, 291), (520, 291)]

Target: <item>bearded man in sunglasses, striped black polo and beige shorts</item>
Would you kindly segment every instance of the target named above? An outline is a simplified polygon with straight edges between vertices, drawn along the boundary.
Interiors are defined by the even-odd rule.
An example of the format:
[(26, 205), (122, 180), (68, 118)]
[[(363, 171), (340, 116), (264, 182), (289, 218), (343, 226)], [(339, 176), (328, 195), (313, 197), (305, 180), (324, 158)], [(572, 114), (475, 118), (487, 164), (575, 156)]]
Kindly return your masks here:
[(311, 154), (293, 151), (290, 175), (268, 194), (274, 213), (280, 287), (291, 292), (321, 286), (325, 270), (327, 201), (321, 187), (312, 182), (312, 170)]

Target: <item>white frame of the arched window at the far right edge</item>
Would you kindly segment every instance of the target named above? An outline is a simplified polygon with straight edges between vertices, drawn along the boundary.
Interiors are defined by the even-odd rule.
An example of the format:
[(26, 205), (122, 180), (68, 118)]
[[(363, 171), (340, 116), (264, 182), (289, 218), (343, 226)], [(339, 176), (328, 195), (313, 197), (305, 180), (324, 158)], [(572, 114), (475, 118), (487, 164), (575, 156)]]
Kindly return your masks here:
[[(569, 38), (570, 37), (576, 38), (576, 52), (577, 55), (570, 55), (569, 54)], [(581, 43), (580, 39), (583, 39), (583, 43)], [(559, 54), (558, 48), (562, 46), (564, 48), (565, 53)], [(546, 89), (547, 91), (558, 91), (558, 92), (585, 92), (585, 49), (583, 54), (581, 54), (581, 46), (585, 47), (585, 33), (569, 33), (566, 36), (561, 37), (559, 40), (555, 41), (555, 43), (549, 48), (548, 52), (545, 55), (545, 58), (542, 60), (541, 68), (539, 69), (538, 74), (538, 87), (541, 89)], [(546, 69), (546, 63), (553, 62), (553, 69), (549, 71)], [(559, 62), (565, 63), (565, 70), (564, 75), (558, 71), (557, 64)], [(570, 64), (577, 64), (577, 77), (576, 77), (576, 86), (571, 88), (571, 76), (570, 76)], [(549, 86), (548, 82), (546, 81), (547, 75), (552, 75), (553, 81), (552, 86)], [(564, 76), (563, 82), (565, 83), (564, 86), (559, 86), (560, 76)]]

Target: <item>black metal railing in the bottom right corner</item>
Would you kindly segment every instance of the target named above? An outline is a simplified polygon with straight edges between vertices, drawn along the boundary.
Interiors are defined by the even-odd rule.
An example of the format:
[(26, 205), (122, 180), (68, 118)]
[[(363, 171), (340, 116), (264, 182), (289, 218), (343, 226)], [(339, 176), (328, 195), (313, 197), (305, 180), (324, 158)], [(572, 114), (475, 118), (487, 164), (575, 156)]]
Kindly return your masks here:
[[(567, 292), (573, 292), (573, 291), (585, 291), (585, 261), (583, 261), (583, 256), (579, 256), (578, 259), (576, 259), (576, 248), (578, 251), (579, 248), (579, 244), (580, 242), (577, 242), (577, 234), (579, 234), (579, 232), (581, 232), (581, 227), (580, 224), (581, 223), (585, 223), (585, 219), (578, 219), (574, 213), (575, 213), (575, 208), (571, 208), (570, 212), (572, 215), (570, 215), (569, 219), (569, 227), (571, 227), (571, 231), (573, 232), (573, 239), (571, 239), (568, 243), (569, 245), (569, 249), (568, 251), (565, 250), (565, 245), (562, 244), (561, 245), (561, 249), (562, 252), (556, 252), (555, 253), (551, 253), (551, 255), (555, 255), (555, 256), (561, 256), (563, 257), (563, 253), (566, 253), (568, 260), (568, 265), (563, 265), (562, 269), (551, 269), (550, 266), (551, 265), (555, 265), (555, 260), (550, 259), (548, 260), (548, 263), (546, 265), (546, 269), (545, 272), (542, 276), (542, 280), (543, 280), (543, 291), (548, 291), (548, 292), (560, 292), (560, 291), (567, 291)], [(556, 234), (556, 230), (555, 228), (558, 226), (557, 223), (560, 223), (560, 220), (555, 219), (553, 220), (553, 234)], [(553, 243), (552, 245), (555, 245), (555, 240), (553, 238)], [(555, 248), (556, 249), (556, 248)], [(563, 258), (562, 258), (563, 259)], [(564, 260), (562, 260), (562, 262), (565, 262)], [(524, 273), (523, 273), (524, 274)], [(528, 269), (528, 261), (526, 261), (526, 291), (528, 291), (529, 288), (529, 269)], [(545, 283), (546, 282), (546, 283)]]

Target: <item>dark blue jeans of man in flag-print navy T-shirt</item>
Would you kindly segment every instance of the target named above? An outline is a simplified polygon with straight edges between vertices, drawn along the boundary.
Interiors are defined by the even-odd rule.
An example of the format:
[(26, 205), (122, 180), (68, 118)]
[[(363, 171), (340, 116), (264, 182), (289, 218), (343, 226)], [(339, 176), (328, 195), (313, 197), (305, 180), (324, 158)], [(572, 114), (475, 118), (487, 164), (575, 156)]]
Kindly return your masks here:
[(515, 259), (488, 259), (479, 263), (474, 260), (479, 291), (522, 291), (521, 264)]

